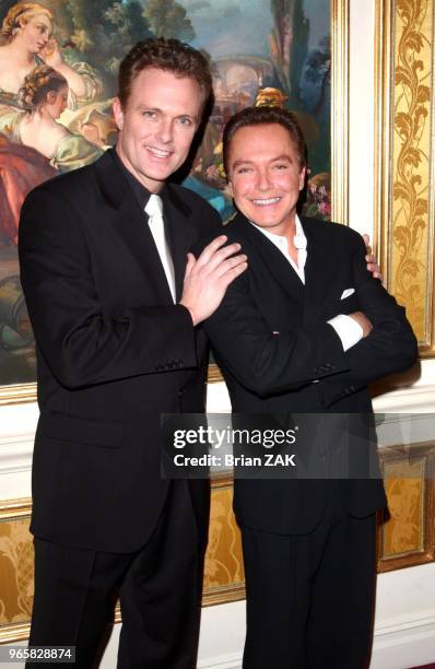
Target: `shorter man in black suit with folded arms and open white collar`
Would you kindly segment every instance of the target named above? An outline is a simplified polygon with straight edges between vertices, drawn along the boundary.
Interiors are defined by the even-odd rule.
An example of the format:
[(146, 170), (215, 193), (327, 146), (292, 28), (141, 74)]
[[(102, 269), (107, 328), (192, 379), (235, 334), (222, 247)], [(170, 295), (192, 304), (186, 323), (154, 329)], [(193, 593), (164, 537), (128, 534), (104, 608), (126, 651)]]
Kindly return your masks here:
[[(337, 413), (344, 414), (342, 425), (364, 424), (365, 414), (369, 423), (367, 384), (415, 361), (404, 309), (369, 277), (360, 235), (297, 216), (305, 146), (290, 113), (244, 109), (228, 121), (223, 146), (239, 211), (226, 233), (242, 244), (249, 267), (204, 328), (233, 411), (273, 420)], [(302, 430), (310, 425), (307, 416)], [(315, 460), (332, 462), (334, 443), (326, 434), (314, 441)], [(361, 467), (367, 446), (362, 453), (357, 439), (349, 443), (349, 465)], [(375, 512), (386, 498), (380, 480), (363, 478), (361, 469), (356, 476), (235, 480), (246, 571), (245, 669), (366, 666)]]

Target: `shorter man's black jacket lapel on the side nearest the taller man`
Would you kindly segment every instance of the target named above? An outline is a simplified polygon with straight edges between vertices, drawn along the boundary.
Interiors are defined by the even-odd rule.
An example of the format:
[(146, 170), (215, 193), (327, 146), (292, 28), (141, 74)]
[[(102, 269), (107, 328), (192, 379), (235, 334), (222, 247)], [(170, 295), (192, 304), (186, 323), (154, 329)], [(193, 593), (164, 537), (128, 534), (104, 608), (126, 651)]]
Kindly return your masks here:
[[(274, 244), (272, 244), (272, 242), (266, 237), (266, 235), (249, 223), (249, 221), (242, 214), (237, 214), (234, 222), (230, 223), (230, 225), (233, 224), (243, 230), (243, 234), (246, 235), (250, 243), (256, 247), (256, 250), (261, 256), (268, 270), (271, 272), (271, 274), (273, 274), (274, 279), (291, 296), (291, 298), (303, 304), (304, 284), (294, 269), (291, 267), (289, 260), (284, 258), (280, 249), (277, 248)], [(247, 255), (249, 256), (248, 249), (242, 250), (246, 250)]]

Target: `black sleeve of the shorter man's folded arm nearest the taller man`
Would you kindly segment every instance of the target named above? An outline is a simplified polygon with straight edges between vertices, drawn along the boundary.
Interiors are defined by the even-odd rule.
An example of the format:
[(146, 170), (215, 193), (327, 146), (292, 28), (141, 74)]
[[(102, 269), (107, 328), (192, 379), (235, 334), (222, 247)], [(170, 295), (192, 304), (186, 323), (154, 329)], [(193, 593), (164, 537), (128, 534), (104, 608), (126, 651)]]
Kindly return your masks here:
[(216, 357), (259, 396), (349, 369), (340, 338), (326, 321), (273, 333), (250, 293), (247, 273), (230, 285), (203, 327)]

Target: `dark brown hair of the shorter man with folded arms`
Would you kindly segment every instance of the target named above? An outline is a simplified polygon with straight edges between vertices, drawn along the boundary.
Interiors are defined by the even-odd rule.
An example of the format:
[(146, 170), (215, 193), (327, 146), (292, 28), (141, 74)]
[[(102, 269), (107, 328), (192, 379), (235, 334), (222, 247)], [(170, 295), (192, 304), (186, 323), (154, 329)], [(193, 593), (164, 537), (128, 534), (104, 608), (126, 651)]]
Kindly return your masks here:
[(278, 124), (289, 132), (296, 146), (301, 169), (306, 166), (305, 138), (294, 114), (286, 109), (281, 109), (281, 107), (246, 107), (246, 109), (242, 109), (242, 111), (237, 111), (237, 114), (232, 116), (225, 126), (222, 141), (223, 162), (227, 177), (230, 176), (228, 159), (231, 142), (237, 130), (250, 126), (269, 126), (270, 124)]

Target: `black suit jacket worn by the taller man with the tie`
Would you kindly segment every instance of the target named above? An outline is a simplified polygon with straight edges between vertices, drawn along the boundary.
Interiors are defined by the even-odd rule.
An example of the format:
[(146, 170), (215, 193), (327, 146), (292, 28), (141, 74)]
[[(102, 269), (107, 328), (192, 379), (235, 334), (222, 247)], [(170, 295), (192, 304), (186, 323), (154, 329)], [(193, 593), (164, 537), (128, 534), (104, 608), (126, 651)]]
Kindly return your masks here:
[[(193, 192), (165, 188), (179, 298), (189, 247), (221, 222)], [(133, 551), (167, 492), (161, 413), (203, 411), (207, 338), (173, 304), (146, 215), (111, 151), (27, 197), (20, 261), (40, 409), (32, 531)], [(191, 490), (207, 509), (203, 482)]]

